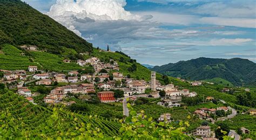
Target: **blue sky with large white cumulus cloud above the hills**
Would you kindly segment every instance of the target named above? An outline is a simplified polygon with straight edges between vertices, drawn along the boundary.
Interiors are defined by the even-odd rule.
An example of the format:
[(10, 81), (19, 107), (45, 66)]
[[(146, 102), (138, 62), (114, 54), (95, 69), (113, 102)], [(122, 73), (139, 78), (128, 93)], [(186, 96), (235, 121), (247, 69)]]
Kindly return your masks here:
[(256, 62), (256, 1), (23, 0), (94, 47), (163, 65), (198, 57)]

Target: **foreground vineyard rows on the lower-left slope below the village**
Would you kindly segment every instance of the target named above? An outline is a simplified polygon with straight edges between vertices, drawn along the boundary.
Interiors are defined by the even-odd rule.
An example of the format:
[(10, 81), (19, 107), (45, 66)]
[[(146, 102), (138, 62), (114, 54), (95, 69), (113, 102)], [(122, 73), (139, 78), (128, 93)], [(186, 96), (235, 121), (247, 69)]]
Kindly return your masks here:
[(119, 136), (120, 123), (114, 120), (33, 105), (11, 91), (5, 92), (0, 94), (1, 136), (11, 134), (13, 137), (19, 137), (25, 133), (33, 138), (70, 135), (75, 137), (80, 135), (89, 123), (91, 128), (99, 128), (99, 132), (103, 132), (106, 137)]

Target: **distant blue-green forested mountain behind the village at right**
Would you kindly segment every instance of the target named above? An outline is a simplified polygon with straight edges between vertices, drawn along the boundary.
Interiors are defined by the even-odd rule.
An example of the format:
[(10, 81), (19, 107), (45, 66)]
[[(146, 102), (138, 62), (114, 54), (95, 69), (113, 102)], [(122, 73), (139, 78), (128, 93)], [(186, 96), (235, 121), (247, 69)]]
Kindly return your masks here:
[(156, 66), (151, 70), (173, 77), (192, 80), (223, 78), (234, 85), (256, 82), (256, 64), (242, 58), (220, 59), (200, 57)]

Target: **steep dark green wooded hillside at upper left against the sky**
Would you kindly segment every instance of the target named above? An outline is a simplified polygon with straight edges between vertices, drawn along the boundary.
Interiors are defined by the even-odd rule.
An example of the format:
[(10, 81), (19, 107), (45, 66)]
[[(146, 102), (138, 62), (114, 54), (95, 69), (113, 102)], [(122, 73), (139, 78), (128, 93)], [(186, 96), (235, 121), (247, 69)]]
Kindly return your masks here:
[(55, 54), (92, 51), (91, 43), (19, 0), (0, 0), (0, 19), (0, 44), (36, 45)]

